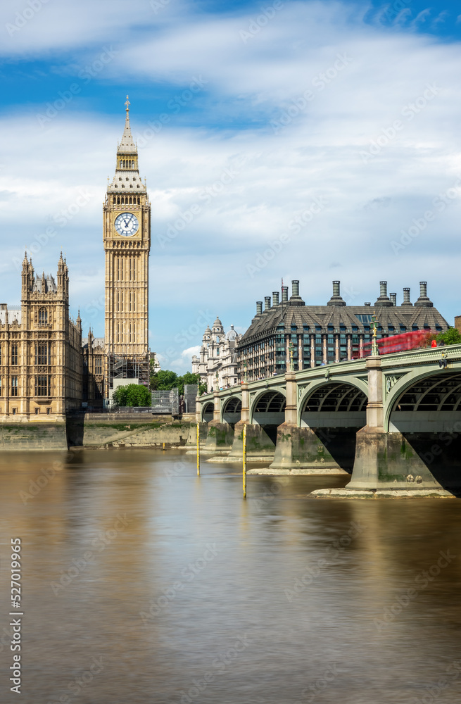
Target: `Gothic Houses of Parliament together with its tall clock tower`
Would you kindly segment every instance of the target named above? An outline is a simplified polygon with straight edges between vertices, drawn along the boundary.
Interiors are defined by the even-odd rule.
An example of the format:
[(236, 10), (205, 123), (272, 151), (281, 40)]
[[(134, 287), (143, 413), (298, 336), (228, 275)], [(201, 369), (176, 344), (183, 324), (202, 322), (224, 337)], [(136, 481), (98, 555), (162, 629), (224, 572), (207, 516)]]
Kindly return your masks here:
[(138, 168), (127, 99), (115, 175), (103, 204), (105, 334), (82, 337), (69, 315), (69, 271), (56, 275), (23, 259), (20, 306), (0, 304), (0, 420), (62, 420), (103, 408), (118, 384), (149, 384), (151, 205)]

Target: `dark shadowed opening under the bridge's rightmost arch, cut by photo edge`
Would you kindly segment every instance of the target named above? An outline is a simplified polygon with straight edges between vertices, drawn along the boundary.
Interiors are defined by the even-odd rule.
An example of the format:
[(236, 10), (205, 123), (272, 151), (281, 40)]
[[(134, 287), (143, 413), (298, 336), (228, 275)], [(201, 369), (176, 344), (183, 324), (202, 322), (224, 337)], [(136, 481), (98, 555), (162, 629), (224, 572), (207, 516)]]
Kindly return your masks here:
[(436, 480), (461, 489), (461, 372), (441, 370), (412, 382), (391, 406), (389, 432), (400, 432)]

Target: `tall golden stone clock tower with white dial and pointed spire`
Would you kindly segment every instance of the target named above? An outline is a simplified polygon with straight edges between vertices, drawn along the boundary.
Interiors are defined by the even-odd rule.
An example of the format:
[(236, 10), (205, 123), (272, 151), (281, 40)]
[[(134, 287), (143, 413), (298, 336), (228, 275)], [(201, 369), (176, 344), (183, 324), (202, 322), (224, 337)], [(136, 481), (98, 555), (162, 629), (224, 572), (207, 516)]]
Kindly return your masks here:
[(109, 389), (114, 379), (138, 379), (140, 384), (149, 384), (151, 204), (139, 177), (128, 96), (125, 106), (127, 116), (117, 149), (115, 176), (108, 183), (103, 206)]

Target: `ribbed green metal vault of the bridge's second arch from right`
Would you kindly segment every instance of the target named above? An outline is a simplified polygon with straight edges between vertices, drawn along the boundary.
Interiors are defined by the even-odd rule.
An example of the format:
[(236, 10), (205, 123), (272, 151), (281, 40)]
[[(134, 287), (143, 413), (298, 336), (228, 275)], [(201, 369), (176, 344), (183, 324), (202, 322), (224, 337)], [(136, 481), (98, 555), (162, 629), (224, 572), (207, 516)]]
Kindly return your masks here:
[[(362, 379), (318, 379), (303, 391), (298, 403), (298, 425), (363, 427), (366, 425), (368, 385)], [(322, 415), (320, 415), (320, 413)], [(315, 415), (313, 415), (315, 414)]]

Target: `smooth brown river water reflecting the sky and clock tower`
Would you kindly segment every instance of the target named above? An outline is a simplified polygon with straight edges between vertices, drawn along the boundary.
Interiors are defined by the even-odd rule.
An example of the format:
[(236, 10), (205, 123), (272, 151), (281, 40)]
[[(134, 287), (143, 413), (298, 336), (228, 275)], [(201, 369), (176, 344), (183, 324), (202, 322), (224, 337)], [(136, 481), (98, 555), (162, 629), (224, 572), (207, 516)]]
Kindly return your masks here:
[(415, 704), (461, 698), (461, 502), (314, 500), (182, 451), (3, 453), (26, 703)]

